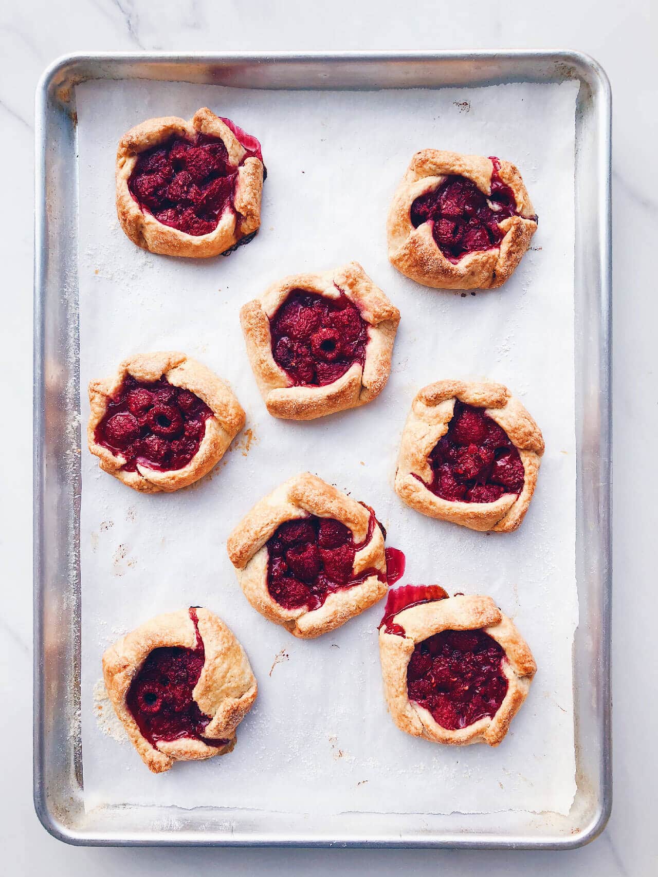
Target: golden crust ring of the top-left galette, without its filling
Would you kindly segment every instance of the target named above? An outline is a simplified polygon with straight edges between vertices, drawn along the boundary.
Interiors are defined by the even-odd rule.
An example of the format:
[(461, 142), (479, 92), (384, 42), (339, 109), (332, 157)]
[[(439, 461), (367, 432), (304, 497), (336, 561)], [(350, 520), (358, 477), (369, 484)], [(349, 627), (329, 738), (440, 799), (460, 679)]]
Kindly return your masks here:
[(225, 253), (247, 234), (261, 225), (261, 194), (263, 165), (250, 156), (238, 168), (233, 205), (225, 210), (217, 228), (208, 234), (192, 235), (161, 222), (148, 211), (143, 211), (132, 197), (128, 180), (137, 163), (139, 153), (146, 152), (172, 137), (193, 139), (197, 133), (209, 134), (224, 142), (229, 160), (236, 167), (247, 150), (232, 130), (207, 107), (202, 107), (189, 122), (176, 116), (148, 118), (135, 125), (118, 141), (117, 149), (117, 215), (124, 232), (137, 246), (151, 253), (167, 256), (189, 256), (207, 259)]

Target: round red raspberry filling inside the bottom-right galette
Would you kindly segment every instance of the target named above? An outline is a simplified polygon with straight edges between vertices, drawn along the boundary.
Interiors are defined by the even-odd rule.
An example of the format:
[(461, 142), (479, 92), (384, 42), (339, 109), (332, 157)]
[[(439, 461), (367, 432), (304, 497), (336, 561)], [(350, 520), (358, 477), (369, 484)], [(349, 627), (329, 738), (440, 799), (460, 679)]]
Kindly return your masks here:
[(484, 631), (442, 631), (417, 643), (407, 667), (409, 700), (442, 728), (495, 716), (507, 693), (504, 650)]

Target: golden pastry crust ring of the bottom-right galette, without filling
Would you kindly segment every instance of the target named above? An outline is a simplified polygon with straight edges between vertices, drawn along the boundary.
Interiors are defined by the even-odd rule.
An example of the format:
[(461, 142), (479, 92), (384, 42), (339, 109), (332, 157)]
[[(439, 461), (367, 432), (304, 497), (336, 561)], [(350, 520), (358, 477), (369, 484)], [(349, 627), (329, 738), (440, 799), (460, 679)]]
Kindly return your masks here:
[[(510, 618), (490, 597), (459, 595), (401, 610), (390, 623), (400, 624), (405, 633), (404, 637), (387, 633), (385, 625), (379, 631), (384, 695), (397, 727), (414, 737), (435, 743), (467, 745), (482, 742), (497, 746), (526, 700), (537, 670), (532, 652)], [(409, 700), (407, 666), (414, 646), (433, 634), (472, 630), (483, 630), (504, 649), (507, 660), (503, 661), (502, 670), (508, 682), (507, 694), (494, 716), (450, 731), (437, 724), (427, 709)]]

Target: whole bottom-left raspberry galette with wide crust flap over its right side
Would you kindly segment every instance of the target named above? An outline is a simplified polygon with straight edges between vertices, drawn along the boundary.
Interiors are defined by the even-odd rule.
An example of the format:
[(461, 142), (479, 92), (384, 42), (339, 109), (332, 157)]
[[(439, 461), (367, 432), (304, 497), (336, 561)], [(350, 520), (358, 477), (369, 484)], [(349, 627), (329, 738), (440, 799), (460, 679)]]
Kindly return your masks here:
[(258, 686), (232, 631), (207, 609), (151, 618), (104, 653), (112, 706), (154, 774), (231, 752)]

